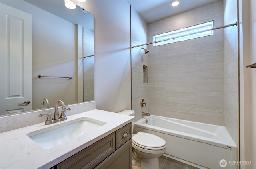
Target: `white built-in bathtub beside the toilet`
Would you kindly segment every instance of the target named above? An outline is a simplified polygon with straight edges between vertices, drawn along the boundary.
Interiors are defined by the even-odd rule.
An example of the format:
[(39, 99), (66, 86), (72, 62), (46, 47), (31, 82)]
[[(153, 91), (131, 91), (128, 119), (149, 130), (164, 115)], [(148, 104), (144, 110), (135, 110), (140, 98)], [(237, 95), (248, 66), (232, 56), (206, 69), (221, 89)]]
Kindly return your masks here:
[[(146, 124), (146, 119), (148, 123)], [(200, 168), (237, 169), (236, 144), (224, 126), (146, 116), (134, 123), (134, 133), (155, 134), (166, 141), (166, 156)], [(220, 161), (226, 160), (220, 166)], [(225, 161), (224, 161), (225, 162)]]

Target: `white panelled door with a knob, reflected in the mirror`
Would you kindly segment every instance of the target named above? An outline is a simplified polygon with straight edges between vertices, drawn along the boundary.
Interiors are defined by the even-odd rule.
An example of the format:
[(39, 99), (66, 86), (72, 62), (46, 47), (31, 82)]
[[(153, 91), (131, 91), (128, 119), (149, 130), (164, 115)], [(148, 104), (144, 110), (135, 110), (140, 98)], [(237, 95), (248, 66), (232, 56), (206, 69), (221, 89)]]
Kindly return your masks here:
[(0, 3), (0, 115), (32, 108), (31, 41), (31, 14)]

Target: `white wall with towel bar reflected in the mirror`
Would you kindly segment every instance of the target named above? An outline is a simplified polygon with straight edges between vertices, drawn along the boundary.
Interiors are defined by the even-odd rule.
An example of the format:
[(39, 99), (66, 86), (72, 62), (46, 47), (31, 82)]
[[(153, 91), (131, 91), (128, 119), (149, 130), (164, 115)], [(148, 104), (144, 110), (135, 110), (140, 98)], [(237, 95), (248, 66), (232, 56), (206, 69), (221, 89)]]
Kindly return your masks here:
[[(32, 20), (32, 109), (42, 108), (43, 98), (48, 98), (50, 107), (58, 100), (65, 104), (78, 102), (78, 27), (39, 8), (32, 14)], [(72, 79), (38, 78), (38, 75)]]

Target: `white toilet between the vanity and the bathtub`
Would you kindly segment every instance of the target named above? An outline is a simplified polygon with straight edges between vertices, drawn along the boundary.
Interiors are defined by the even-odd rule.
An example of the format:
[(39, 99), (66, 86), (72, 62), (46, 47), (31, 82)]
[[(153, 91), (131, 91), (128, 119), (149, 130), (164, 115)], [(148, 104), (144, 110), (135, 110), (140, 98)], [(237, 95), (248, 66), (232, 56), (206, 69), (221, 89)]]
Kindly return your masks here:
[[(119, 113), (135, 116), (135, 112), (133, 110), (124, 110)], [(132, 122), (132, 132), (133, 123), (134, 122)], [(138, 132), (132, 136), (132, 157), (134, 169), (159, 169), (158, 157), (163, 155), (165, 151), (165, 140), (154, 134)]]

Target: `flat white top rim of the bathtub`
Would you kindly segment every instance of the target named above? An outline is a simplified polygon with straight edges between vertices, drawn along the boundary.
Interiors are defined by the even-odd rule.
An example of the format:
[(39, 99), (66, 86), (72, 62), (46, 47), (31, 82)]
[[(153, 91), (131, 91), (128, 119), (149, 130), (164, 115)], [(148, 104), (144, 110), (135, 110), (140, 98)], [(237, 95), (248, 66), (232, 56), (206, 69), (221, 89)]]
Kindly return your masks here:
[[(168, 119), (173, 119), (173, 120), (178, 120), (178, 121), (184, 121), (184, 122), (193, 122), (193, 121), (189, 121), (189, 120), (182, 120), (182, 119), (176, 119), (176, 118), (169, 118), (169, 117), (164, 117), (164, 116), (156, 116), (156, 115), (150, 115), (150, 116), (155, 116), (155, 117), (160, 117), (160, 118), (168, 118)], [(140, 128), (145, 128), (147, 130), (152, 130), (152, 131), (156, 131), (156, 132), (160, 132), (163, 134), (170, 134), (172, 136), (176, 136), (176, 137), (181, 137), (182, 138), (186, 138), (188, 140), (193, 140), (193, 141), (198, 141), (198, 142), (202, 142), (202, 143), (208, 143), (210, 145), (215, 145), (215, 146), (219, 146), (219, 147), (223, 147), (223, 148), (227, 148), (227, 149), (236, 149), (237, 146), (234, 143), (234, 140), (231, 138), (230, 134), (228, 133), (228, 130), (226, 129), (225, 126), (218, 126), (218, 125), (214, 125), (214, 124), (206, 124), (206, 123), (201, 123), (201, 122), (194, 122), (194, 123), (198, 123), (198, 124), (206, 124), (206, 125), (210, 125), (210, 126), (218, 126), (221, 127), (222, 130), (224, 130), (224, 132), (226, 134), (228, 134), (228, 140), (222, 141), (222, 140), (217, 140), (214, 138), (207, 138), (207, 137), (203, 137), (203, 136), (198, 136), (198, 135), (194, 135), (194, 134), (189, 134), (189, 133), (185, 133), (185, 132), (179, 132), (176, 130), (170, 130), (170, 129), (166, 129), (166, 128), (162, 128), (162, 127), (157, 127), (157, 126), (152, 126), (152, 125), (148, 125), (148, 124), (144, 124), (145, 120), (148, 119), (150, 117), (146, 116), (141, 118), (140, 120), (134, 122), (134, 131), (136, 132), (136, 127), (140, 127)], [(143, 126), (143, 127), (141, 127)]]

